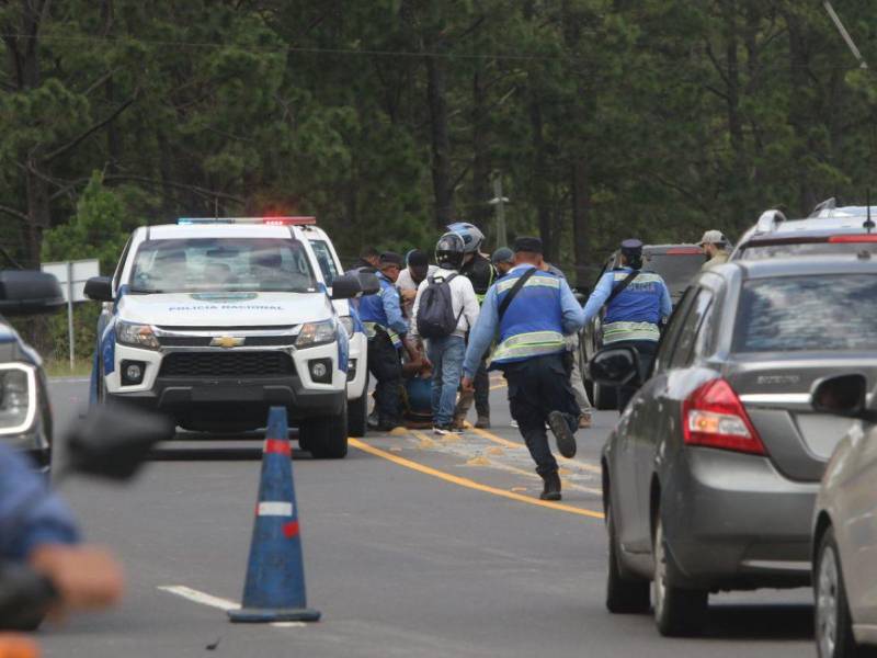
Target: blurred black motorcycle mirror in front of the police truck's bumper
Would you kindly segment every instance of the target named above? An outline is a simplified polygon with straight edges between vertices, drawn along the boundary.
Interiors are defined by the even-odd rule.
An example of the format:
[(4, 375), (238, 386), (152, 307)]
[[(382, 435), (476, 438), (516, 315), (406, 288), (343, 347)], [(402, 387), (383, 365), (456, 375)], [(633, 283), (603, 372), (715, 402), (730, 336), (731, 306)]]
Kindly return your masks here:
[(67, 435), (67, 462), (61, 473), (129, 479), (152, 446), (172, 439), (174, 431), (173, 422), (164, 416), (129, 405), (98, 405)]

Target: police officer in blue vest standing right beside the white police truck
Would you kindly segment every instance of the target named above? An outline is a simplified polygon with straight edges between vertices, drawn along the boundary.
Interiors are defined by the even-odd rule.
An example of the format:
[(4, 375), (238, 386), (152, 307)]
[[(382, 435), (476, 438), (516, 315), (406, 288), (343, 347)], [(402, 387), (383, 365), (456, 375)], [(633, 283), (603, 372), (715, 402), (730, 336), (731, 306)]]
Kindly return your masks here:
[(399, 348), (408, 332), (408, 321), (402, 316), (399, 291), (396, 290), (402, 257), (391, 251), (381, 253), (378, 268), (380, 291), (362, 297), (358, 313), (368, 337), (368, 372), (377, 379), (377, 429), (387, 432), (402, 424)]

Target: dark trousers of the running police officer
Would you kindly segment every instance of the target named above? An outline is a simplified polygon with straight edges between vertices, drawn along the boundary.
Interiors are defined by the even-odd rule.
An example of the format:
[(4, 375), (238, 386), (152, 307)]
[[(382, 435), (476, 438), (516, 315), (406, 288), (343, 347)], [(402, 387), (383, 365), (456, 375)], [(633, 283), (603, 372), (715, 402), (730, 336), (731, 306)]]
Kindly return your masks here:
[(512, 418), (517, 421), (517, 429), (536, 462), (536, 473), (543, 477), (556, 473), (557, 461), (545, 430), (548, 413), (561, 411), (574, 420), (576, 427), (579, 420), (579, 407), (569, 385), (562, 354), (510, 363), (503, 371), (509, 382)]

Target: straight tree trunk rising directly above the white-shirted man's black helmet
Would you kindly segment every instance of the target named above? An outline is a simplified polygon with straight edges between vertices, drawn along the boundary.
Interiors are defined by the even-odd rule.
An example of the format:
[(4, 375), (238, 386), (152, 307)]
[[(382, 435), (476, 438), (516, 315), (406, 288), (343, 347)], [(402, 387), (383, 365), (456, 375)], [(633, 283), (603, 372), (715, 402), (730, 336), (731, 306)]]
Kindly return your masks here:
[(426, 101), (432, 137), (432, 184), (435, 196), (435, 225), (442, 230), (454, 222), (454, 190), (451, 189), (451, 137), (447, 128), (445, 64), (426, 57)]

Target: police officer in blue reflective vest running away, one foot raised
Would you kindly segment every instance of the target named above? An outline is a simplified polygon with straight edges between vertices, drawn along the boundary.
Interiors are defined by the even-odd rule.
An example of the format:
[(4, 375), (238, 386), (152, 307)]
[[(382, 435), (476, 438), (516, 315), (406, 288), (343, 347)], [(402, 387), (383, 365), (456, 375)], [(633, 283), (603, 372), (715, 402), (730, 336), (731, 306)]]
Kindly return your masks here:
[(579, 407), (563, 363), (563, 336), (584, 326), (584, 313), (563, 279), (542, 271), (542, 251), (538, 238), (515, 241), (514, 266), (490, 286), (469, 334), (463, 387), (471, 389), (481, 355), (498, 336), (490, 370), (501, 370), (509, 382), (512, 418), (545, 483), (540, 498), (560, 500), (557, 461), (545, 424), (560, 454), (574, 456)]

